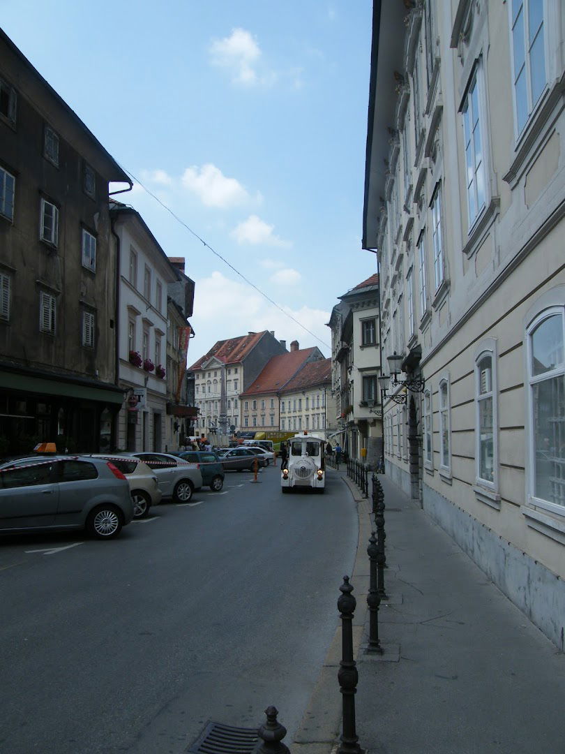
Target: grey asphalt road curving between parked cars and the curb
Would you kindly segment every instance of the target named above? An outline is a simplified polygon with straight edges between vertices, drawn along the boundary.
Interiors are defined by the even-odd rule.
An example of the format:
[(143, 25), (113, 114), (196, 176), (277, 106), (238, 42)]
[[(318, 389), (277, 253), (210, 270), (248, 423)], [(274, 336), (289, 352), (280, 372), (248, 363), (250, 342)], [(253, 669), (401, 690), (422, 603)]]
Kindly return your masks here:
[[(115, 541), (0, 538), (0, 752), (177, 754), (209, 720), (298, 728), (337, 625), (357, 516), (229, 472)], [(336, 679), (336, 694), (339, 694)]]

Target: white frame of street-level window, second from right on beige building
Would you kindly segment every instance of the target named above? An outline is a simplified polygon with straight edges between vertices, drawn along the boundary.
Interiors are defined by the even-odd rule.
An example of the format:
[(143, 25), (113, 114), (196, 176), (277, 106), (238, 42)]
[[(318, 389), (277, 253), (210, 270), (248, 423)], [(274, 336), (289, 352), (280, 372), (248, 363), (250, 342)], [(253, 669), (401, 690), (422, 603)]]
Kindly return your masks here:
[[(490, 375), (481, 373), (481, 361), (485, 357), (490, 358)], [(481, 342), (475, 353), (475, 484), (496, 493), (498, 490), (498, 377), (496, 369), (496, 340), (487, 339)], [(486, 379), (490, 385), (483, 385)], [(487, 480), (481, 476), (481, 402), (492, 400), (492, 433), (493, 433), (493, 478)]]

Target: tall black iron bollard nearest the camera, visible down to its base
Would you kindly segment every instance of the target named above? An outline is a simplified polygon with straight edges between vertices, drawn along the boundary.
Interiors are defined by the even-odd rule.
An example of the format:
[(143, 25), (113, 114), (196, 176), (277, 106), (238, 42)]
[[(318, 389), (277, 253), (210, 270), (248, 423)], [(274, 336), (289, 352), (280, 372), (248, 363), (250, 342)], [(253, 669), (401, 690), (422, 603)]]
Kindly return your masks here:
[(344, 583), (340, 587), (341, 597), (337, 600), (337, 609), (341, 618), (341, 645), (342, 660), (340, 662), (337, 680), (340, 683), (343, 709), (343, 733), (341, 745), (337, 754), (362, 754), (358, 737), (355, 731), (355, 694), (359, 674), (356, 662), (353, 659), (353, 613), (357, 601), (353, 596), (353, 587), (349, 576), (344, 576)]

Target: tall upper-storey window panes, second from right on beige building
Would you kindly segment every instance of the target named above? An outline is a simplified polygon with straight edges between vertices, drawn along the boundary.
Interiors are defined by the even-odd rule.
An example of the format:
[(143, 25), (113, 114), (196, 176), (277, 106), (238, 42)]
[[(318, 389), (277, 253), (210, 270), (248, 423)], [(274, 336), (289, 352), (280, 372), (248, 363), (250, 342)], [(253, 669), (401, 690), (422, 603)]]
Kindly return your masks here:
[(480, 73), (478, 66), (475, 67), (462, 110), (469, 227), (484, 207), (484, 155), (481, 137), (481, 91), (478, 78)]

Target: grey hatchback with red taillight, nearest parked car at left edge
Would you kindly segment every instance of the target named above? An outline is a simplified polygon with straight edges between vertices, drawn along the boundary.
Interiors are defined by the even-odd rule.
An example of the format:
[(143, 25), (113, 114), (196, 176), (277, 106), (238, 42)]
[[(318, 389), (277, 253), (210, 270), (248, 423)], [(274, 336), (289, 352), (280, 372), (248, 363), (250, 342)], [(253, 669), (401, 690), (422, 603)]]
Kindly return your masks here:
[(0, 465), (0, 532), (86, 529), (111, 539), (133, 519), (130, 485), (103, 458), (50, 455)]

